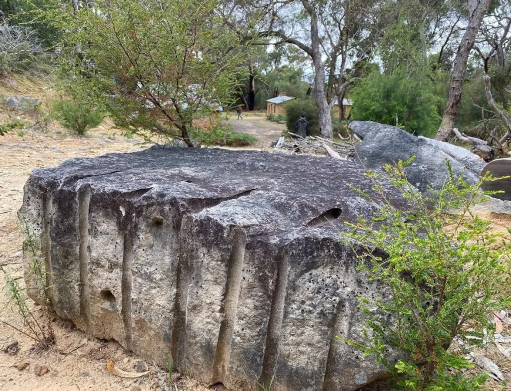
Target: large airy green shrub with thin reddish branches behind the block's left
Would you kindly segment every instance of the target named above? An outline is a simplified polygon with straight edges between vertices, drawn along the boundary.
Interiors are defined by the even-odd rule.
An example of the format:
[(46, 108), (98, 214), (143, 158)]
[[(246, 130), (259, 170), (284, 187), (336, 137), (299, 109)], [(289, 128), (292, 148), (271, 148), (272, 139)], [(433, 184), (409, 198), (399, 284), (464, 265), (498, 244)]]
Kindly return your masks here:
[(76, 46), (63, 58), (63, 84), (132, 134), (193, 146), (192, 122), (228, 106), (247, 57), (221, 11), (217, 0), (97, 0), (74, 17), (57, 15), (84, 59), (77, 64)]

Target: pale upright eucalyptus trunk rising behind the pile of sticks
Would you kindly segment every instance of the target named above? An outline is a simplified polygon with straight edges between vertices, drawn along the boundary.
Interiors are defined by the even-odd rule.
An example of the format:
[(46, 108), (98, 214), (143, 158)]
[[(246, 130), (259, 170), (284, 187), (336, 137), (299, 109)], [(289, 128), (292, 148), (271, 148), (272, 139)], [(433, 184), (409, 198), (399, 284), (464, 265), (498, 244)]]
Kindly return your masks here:
[[(307, 2), (305, 2), (307, 3)], [(306, 6), (306, 9), (309, 9)], [(311, 15), (311, 48), (312, 62), (314, 64), (314, 99), (318, 108), (318, 126), (321, 136), (333, 139), (331, 107), (327, 101), (327, 94), (324, 88), (324, 63), (321, 59), (321, 44), (319, 41), (318, 21), (315, 12)]]

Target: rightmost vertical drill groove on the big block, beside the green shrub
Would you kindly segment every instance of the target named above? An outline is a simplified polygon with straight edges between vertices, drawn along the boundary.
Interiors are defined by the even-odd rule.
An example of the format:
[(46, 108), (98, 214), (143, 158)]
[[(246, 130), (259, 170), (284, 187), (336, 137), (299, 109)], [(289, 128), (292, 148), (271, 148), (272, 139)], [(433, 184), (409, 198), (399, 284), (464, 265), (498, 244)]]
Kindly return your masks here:
[(332, 327), (332, 336), (330, 340), (330, 348), (328, 351), (327, 366), (324, 371), (323, 378), (323, 391), (330, 391), (336, 389), (336, 384), (339, 383), (339, 368), (340, 361), (343, 357), (342, 348), (345, 345), (337, 339), (337, 335), (344, 338), (350, 336), (350, 325), (352, 323), (352, 306), (349, 300), (341, 298), (337, 303), (335, 309), (334, 324)]

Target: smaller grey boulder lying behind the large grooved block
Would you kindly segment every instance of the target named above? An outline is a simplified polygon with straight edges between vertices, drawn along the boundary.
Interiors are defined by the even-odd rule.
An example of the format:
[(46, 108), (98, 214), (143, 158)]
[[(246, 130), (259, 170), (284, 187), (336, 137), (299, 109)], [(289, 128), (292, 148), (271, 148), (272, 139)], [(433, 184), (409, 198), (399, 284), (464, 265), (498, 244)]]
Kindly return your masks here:
[(428, 186), (434, 190), (442, 188), (448, 177), (446, 159), (451, 162), (454, 174), (470, 184), (479, 180), (484, 167), (482, 159), (467, 150), (463, 152), (461, 147), (415, 137), (394, 126), (353, 121), (350, 128), (363, 139), (357, 147), (357, 155), (360, 163), (367, 168), (380, 168), (385, 163), (394, 164), (415, 156), (405, 170), (406, 176), (423, 193), (429, 193)]

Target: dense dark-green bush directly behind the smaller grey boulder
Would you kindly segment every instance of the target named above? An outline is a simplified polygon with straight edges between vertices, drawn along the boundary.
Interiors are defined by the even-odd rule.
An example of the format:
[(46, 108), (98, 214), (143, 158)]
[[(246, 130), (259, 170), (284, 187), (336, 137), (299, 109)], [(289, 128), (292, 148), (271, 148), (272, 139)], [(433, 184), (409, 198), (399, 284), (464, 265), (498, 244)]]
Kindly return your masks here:
[(410, 133), (431, 137), (440, 116), (429, 83), (402, 71), (390, 75), (374, 71), (351, 92), (351, 118), (401, 125)]

